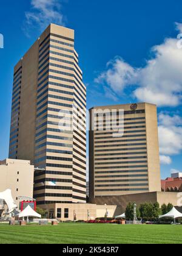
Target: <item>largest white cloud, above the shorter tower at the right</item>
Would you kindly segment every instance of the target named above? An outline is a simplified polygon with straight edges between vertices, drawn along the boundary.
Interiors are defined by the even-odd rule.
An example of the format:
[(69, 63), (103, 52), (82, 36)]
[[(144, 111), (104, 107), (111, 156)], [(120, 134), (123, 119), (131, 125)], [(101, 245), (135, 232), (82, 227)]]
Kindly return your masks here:
[[(177, 25), (178, 30), (182, 24)], [(107, 84), (115, 93), (123, 93), (129, 85), (137, 85), (133, 96), (158, 106), (177, 106), (182, 98), (182, 49), (177, 38), (167, 38), (151, 49), (153, 57), (143, 68), (135, 68), (116, 57), (95, 82)]]

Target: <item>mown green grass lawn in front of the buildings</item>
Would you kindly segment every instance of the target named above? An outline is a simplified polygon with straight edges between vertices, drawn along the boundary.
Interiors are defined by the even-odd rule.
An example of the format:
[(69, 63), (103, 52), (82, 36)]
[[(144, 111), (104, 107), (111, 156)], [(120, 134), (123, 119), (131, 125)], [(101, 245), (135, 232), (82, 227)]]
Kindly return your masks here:
[(0, 244), (130, 244), (182, 243), (182, 226), (59, 224), (0, 225)]

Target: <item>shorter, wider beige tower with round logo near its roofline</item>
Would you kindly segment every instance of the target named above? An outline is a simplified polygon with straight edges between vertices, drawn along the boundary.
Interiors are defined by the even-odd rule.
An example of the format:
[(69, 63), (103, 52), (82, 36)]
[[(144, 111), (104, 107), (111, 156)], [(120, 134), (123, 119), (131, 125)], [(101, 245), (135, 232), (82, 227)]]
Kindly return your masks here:
[(90, 199), (161, 191), (157, 107), (90, 109)]

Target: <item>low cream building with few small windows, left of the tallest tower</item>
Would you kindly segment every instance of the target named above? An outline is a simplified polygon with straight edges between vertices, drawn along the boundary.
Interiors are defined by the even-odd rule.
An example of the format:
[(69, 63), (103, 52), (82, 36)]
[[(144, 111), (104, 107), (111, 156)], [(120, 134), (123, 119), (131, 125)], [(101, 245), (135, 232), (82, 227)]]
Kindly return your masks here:
[(30, 161), (5, 159), (0, 162), (0, 191), (12, 190), (12, 197), (19, 207), (19, 197), (33, 198), (34, 166)]

